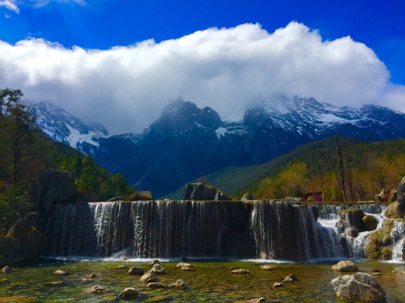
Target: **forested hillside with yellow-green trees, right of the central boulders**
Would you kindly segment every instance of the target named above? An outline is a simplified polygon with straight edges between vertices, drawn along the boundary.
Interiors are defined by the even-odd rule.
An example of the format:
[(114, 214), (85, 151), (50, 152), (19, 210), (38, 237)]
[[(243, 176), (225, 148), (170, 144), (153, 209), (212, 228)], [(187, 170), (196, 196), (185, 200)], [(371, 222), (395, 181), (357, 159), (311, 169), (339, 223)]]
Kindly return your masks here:
[[(303, 196), (304, 192), (323, 191), (325, 199), (372, 199), (382, 188), (396, 188), (405, 175), (405, 139), (368, 142), (339, 137), (342, 154), (340, 168), (336, 137), (297, 147), (269, 162), (250, 166), (231, 166), (203, 179), (240, 198), (250, 191), (256, 198)], [(183, 188), (169, 198), (181, 198)], [(361, 194), (360, 194), (361, 193)]]

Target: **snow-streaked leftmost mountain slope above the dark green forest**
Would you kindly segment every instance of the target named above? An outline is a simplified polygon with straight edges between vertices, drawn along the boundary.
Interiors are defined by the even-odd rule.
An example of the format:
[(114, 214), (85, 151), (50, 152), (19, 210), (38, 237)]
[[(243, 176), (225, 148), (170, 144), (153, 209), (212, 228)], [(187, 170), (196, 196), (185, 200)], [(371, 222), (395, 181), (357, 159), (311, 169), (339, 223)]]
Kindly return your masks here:
[(70, 145), (84, 154), (90, 154), (99, 147), (100, 138), (108, 138), (108, 132), (101, 124), (84, 124), (65, 110), (43, 101), (29, 107), (36, 117), (36, 123), (51, 139)]

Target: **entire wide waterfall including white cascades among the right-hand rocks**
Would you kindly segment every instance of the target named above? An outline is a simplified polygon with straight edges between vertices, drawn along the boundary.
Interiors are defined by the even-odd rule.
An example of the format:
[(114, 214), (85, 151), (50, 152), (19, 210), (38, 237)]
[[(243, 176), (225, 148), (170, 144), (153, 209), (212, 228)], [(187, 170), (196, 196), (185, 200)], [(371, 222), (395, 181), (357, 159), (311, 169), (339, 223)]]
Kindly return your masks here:
[[(308, 261), (365, 258), (372, 232), (342, 232), (339, 211), (362, 209), (381, 227), (384, 204), (285, 201), (133, 201), (58, 205), (47, 230), (51, 256), (239, 257)], [(404, 226), (391, 232), (403, 261)], [(401, 244), (402, 243), (402, 244)]]

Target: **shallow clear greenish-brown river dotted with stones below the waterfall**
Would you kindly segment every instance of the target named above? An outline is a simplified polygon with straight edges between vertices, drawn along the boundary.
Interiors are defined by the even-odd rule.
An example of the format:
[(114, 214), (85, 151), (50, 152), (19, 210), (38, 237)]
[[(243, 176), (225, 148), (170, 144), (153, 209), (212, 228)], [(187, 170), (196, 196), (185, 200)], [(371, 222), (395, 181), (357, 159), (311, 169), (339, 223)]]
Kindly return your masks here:
[[(165, 285), (182, 279), (187, 284), (184, 290), (149, 290), (140, 276), (128, 275), (128, 269), (137, 266), (144, 271), (150, 269), (147, 260), (61, 260), (38, 259), (14, 267), (10, 274), (0, 273), (0, 302), (114, 302), (121, 290), (134, 287), (140, 295), (137, 302), (238, 302), (259, 297), (266, 302), (343, 302), (338, 299), (331, 280), (342, 275), (331, 269), (337, 262), (322, 263), (272, 263), (262, 260), (189, 260), (195, 271), (185, 272), (176, 268), (179, 261), (160, 260), (168, 272), (158, 279)], [(380, 269), (377, 281), (387, 293), (387, 302), (405, 302), (405, 264), (376, 261), (355, 261), (359, 271), (373, 274)], [(260, 265), (276, 268), (263, 271)], [(124, 269), (118, 269), (124, 265)], [(231, 274), (231, 270), (244, 268), (248, 275)], [(67, 273), (53, 274), (56, 270)], [(90, 281), (82, 278), (90, 274), (97, 277)], [(284, 287), (273, 288), (275, 282), (290, 274), (298, 281), (284, 283)], [(100, 285), (109, 290), (105, 294), (90, 294), (86, 290)]]

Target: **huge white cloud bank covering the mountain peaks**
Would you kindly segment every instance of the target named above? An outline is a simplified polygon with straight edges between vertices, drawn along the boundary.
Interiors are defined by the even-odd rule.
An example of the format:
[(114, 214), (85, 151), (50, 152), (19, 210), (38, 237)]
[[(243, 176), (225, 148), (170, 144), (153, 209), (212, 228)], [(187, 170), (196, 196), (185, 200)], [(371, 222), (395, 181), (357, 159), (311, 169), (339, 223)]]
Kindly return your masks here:
[(0, 83), (101, 122), (112, 133), (142, 131), (179, 96), (229, 119), (272, 93), (405, 112), (405, 86), (389, 77), (365, 44), (350, 37), (322, 41), (296, 22), (274, 33), (242, 24), (106, 51), (42, 39), (0, 42)]

